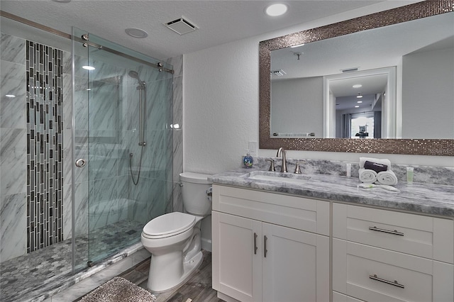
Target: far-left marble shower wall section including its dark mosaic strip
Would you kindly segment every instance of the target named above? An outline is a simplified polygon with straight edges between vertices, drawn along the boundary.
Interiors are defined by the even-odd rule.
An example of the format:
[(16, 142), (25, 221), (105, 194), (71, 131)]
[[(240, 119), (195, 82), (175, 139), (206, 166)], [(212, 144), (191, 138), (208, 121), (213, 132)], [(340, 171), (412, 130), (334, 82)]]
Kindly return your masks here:
[(62, 60), (62, 50), (1, 33), (2, 262), (64, 237)]

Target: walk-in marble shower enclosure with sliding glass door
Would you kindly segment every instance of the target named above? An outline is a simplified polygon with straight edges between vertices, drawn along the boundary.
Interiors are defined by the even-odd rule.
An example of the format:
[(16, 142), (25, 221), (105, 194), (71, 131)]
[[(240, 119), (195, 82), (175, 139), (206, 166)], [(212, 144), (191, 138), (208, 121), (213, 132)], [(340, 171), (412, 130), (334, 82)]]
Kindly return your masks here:
[(2, 301), (140, 249), (172, 211), (172, 69), (1, 12)]

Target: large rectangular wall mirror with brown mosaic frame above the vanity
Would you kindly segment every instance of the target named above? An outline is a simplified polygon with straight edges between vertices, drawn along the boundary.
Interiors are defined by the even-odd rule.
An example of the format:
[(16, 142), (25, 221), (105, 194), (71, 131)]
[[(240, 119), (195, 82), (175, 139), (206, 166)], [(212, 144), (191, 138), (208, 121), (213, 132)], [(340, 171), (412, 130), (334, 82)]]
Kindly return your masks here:
[(454, 155), (453, 3), (262, 41), (260, 148)]

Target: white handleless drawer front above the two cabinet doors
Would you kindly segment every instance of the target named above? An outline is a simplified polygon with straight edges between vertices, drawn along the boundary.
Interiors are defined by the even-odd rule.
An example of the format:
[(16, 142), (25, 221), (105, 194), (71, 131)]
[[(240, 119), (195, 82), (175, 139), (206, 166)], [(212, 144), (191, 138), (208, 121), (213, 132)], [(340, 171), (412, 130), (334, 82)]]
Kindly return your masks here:
[(328, 201), (264, 191), (213, 186), (213, 210), (329, 235)]

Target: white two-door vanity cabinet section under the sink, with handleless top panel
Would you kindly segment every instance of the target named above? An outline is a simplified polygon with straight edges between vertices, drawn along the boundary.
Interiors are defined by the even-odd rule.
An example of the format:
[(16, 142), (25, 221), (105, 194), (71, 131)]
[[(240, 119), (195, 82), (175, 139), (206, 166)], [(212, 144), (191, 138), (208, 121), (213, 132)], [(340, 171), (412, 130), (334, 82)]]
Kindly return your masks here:
[(329, 203), (213, 186), (213, 288), (238, 301), (329, 301)]

